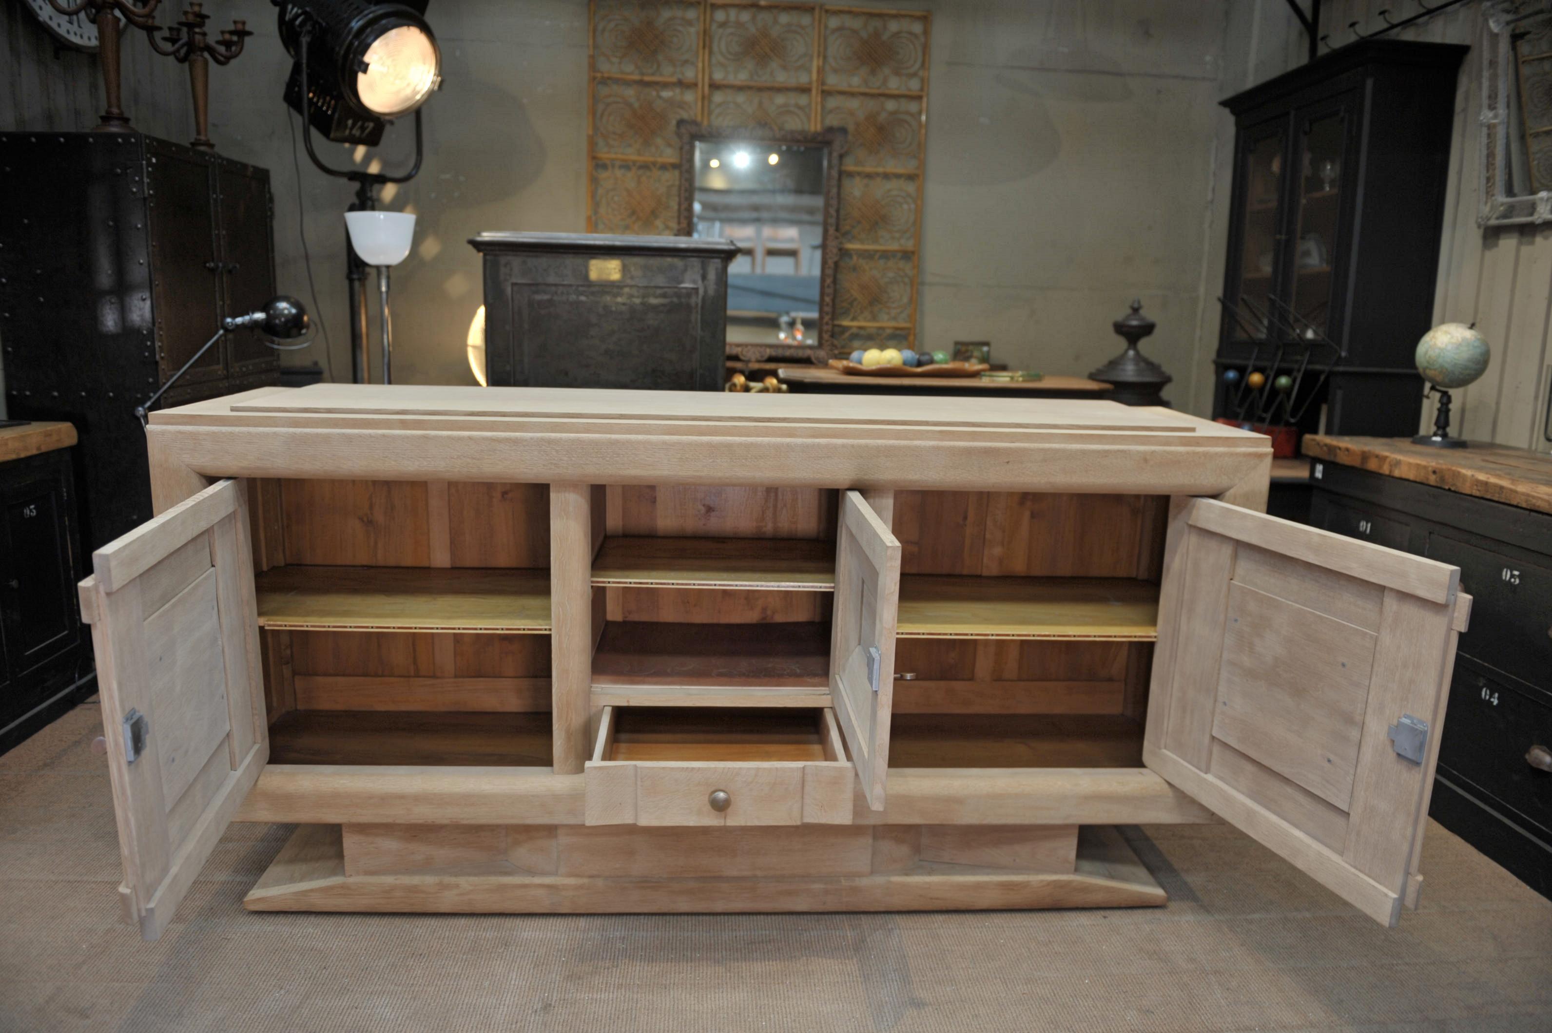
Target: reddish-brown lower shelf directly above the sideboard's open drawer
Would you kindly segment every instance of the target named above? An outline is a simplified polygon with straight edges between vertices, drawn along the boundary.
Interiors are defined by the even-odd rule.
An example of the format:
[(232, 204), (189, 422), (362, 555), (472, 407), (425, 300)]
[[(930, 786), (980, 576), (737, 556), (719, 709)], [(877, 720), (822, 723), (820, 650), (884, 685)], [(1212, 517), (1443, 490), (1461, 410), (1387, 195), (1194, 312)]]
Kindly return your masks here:
[(593, 655), (599, 704), (830, 706), (830, 627), (611, 620)]

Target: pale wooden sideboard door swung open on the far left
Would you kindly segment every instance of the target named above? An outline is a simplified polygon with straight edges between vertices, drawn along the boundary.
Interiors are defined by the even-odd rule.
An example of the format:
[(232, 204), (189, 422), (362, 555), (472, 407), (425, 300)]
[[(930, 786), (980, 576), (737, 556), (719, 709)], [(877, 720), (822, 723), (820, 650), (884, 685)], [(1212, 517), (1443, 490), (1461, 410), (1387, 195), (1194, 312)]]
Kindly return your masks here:
[(268, 760), (247, 499), (220, 481), (92, 560), (120, 893), (155, 940)]

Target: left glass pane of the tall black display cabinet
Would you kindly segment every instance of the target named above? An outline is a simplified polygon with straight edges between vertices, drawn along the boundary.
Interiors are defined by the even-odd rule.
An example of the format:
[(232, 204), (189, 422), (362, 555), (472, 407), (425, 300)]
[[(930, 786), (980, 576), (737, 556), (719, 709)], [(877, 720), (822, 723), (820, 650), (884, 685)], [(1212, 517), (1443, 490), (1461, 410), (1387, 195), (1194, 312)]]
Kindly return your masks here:
[(1276, 119), (1246, 140), (1240, 154), (1240, 240), (1237, 290), (1231, 301), (1240, 309), (1234, 320), (1234, 340), (1266, 337), (1273, 284), (1282, 271), (1284, 163), (1287, 161), (1287, 119)]

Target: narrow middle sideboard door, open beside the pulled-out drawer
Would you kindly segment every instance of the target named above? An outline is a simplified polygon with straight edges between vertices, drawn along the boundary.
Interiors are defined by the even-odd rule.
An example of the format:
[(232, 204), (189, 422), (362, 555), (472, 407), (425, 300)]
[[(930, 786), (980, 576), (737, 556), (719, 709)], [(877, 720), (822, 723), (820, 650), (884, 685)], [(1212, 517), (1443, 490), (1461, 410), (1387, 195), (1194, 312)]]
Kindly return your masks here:
[(830, 696), (868, 807), (882, 811), (889, 769), (900, 543), (858, 492), (841, 493), (835, 538)]

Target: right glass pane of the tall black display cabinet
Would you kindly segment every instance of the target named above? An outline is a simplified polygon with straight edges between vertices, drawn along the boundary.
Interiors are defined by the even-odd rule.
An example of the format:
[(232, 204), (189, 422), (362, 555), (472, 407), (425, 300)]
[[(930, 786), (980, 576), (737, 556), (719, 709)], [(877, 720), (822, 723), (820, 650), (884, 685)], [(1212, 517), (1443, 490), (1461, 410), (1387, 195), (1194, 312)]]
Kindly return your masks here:
[(1288, 304), (1294, 337), (1330, 335), (1332, 273), (1342, 211), (1342, 164), (1347, 161), (1347, 110), (1327, 109), (1301, 118), (1299, 188), (1294, 205), (1293, 278)]

